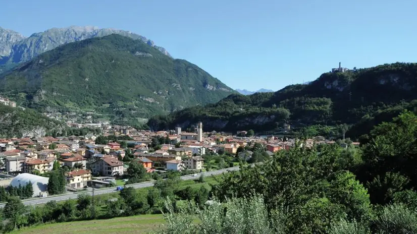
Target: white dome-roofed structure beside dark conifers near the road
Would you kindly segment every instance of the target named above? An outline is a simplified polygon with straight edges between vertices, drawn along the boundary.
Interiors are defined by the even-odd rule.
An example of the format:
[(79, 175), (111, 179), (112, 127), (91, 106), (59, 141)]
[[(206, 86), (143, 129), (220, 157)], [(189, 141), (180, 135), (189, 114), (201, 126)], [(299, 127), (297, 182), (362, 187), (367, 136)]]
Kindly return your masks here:
[(30, 182), (33, 187), (32, 197), (46, 197), (48, 194), (48, 181), (49, 179), (46, 177), (40, 177), (39, 175), (29, 173), (21, 173), (12, 179), (10, 186), (25, 186)]

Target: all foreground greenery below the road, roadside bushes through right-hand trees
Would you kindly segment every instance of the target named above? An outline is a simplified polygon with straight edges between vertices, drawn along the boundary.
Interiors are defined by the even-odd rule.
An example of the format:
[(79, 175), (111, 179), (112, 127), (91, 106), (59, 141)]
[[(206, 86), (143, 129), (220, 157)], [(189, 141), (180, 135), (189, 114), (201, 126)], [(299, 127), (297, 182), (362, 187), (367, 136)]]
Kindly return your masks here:
[(80, 196), (29, 214), (13, 198), (3, 223), (10, 230), (163, 212), (167, 223), (158, 233), (416, 233), (415, 158), (417, 116), (405, 110), (363, 137), (360, 148), (298, 142), (262, 163), (241, 164), (211, 186), (171, 176), (140, 194), (126, 188), (114, 201)]

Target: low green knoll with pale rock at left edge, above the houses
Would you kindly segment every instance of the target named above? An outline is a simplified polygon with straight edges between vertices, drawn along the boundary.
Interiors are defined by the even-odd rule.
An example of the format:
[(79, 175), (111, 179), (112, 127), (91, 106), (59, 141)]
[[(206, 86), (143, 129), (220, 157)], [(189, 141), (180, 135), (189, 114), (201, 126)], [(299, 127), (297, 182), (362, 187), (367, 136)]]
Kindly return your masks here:
[(61, 133), (66, 126), (34, 110), (0, 104), (0, 138), (39, 137)]

